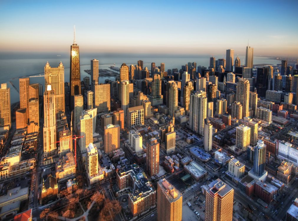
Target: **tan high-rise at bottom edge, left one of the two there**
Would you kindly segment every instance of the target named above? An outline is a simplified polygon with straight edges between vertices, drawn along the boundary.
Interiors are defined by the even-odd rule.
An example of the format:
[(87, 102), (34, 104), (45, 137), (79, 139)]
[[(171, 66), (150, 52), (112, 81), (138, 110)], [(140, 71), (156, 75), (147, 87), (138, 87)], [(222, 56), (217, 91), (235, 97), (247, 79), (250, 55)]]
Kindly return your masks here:
[(166, 179), (157, 182), (157, 220), (182, 220), (182, 194)]

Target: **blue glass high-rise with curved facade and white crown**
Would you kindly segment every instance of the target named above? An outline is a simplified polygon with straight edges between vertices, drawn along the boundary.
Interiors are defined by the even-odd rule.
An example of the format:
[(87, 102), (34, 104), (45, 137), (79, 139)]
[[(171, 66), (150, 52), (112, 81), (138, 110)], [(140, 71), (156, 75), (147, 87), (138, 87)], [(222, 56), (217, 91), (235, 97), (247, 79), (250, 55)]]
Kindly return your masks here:
[(254, 162), (253, 171), (256, 176), (261, 176), (264, 173), (266, 165), (266, 144), (264, 141), (259, 140), (254, 147)]

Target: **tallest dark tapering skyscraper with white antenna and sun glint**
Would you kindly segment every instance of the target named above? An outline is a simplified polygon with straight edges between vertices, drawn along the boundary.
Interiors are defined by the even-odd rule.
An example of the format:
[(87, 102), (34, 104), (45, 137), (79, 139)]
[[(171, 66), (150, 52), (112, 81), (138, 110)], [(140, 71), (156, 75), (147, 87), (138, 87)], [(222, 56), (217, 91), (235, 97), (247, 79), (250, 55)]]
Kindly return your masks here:
[[(75, 42), (74, 30), (74, 43), (70, 46), (70, 105), (71, 110), (74, 108), (74, 96), (82, 94), (81, 91), (81, 74), (80, 74), (80, 51), (79, 46)], [(64, 83), (64, 82), (63, 82)]]

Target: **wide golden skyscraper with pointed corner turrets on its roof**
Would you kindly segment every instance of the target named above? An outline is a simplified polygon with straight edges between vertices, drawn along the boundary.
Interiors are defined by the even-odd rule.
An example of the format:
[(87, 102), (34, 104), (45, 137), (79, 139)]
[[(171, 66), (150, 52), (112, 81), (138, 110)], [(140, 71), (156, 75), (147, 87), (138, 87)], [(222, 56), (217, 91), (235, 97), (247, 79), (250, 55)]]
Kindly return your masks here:
[(45, 88), (48, 84), (52, 86), (55, 94), (56, 116), (58, 113), (65, 112), (65, 93), (64, 93), (64, 66), (60, 61), (57, 68), (52, 68), (49, 62), (44, 67)]

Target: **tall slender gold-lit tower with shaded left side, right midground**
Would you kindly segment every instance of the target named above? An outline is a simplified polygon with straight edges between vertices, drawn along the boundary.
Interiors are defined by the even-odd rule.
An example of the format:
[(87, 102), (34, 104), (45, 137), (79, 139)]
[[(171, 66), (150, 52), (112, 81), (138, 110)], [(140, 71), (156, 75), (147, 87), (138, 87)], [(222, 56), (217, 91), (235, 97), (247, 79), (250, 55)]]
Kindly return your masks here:
[(242, 104), (242, 117), (249, 116), (249, 81), (241, 78), (237, 83), (236, 101)]

